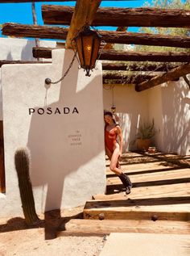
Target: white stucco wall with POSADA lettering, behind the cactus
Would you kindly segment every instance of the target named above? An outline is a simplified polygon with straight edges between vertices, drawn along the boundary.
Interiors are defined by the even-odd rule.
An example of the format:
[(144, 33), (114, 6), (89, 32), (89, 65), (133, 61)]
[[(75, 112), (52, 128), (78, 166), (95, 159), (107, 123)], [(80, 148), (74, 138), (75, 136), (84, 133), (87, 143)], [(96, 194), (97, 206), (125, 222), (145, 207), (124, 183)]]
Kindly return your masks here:
[[(14, 169), (19, 146), (31, 151), (37, 212), (82, 205), (105, 192), (101, 65), (89, 78), (75, 60), (63, 82), (47, 86), (44, 79), (59, 79), (73, 52), (54, 50), (52, 56), (52, 64), (2, 66), (6, 196), (0, 198), (0, 216), (22, 214)], [(78, 113), (72, 114), (74, 107)], [(39, 108), (47, 113), (38, 114)]]

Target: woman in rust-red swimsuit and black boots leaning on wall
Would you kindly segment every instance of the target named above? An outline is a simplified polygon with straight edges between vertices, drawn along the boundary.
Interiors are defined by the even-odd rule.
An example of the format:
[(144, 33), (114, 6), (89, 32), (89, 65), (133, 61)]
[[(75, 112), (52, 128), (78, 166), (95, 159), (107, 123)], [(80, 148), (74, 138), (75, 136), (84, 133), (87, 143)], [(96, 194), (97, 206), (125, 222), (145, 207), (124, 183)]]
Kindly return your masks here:
[[(130, 178), (126, 174), (123, 174), (121, 166), (118, 163), (119, 157), (121, 157), (122, 155), (122, 129), (118, 124), (116, 124), (115, 117), (111, 112), (105, 111), (104, 120), (105, 153), (110, 160), (109, 169), (117, 174), (118, 178), (121, 179), (124, 187), (126, 188), (126, 194), (130, 194), (132, 183), (130, 182)], [(119, 139), (119, 141), (117, 140), (117, 138)]]

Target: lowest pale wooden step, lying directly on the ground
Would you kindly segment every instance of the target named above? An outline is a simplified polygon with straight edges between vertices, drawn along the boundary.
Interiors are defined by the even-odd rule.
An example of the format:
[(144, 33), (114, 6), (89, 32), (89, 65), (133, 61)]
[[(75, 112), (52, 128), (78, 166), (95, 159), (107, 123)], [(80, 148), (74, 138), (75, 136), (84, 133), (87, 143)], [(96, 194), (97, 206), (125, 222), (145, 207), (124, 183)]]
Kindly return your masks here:
[[(61, 231), (61, 229), (63, 231)], [(60, 226), (58, 237), (107, 233), (177, 233), (189, 234), (190, 223), (165, 220), (69, 220)]]

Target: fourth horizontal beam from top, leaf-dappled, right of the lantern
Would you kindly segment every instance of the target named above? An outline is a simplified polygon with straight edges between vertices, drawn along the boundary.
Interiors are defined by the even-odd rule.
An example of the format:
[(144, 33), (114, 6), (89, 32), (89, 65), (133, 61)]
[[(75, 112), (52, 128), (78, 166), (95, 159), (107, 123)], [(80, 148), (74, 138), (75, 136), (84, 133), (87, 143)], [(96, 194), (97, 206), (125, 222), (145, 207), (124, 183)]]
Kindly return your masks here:
[(168, 70), (176, 68), (177, 65), (169, 65), (169, 64), (144, 64), (144, 65), (137, 65), (137, 64), (121, 64), (121, 63), (102, 63), (103, 70), (125, 70), (125, 71), (154, 71), (154, 72), (166, 72)]

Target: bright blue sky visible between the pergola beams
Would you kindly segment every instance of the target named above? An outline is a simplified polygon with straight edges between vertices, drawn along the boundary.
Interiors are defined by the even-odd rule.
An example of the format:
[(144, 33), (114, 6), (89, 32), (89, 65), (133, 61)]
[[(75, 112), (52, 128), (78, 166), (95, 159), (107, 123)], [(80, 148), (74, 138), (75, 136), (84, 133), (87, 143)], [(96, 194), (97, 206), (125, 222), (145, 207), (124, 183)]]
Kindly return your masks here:
[[(142, 7), (145, 5), (142, 0), (132, 0), (132, 1), (102, 1), (101, 6), (113, 6), (113, 7)], [(43, 19), (41, 15), (41, 6), (43, 4), (53, 4), (53, 5), (64, 5), (64, 6), (75, 6), (75, 2), (36, 2), (35, 9), (37, 14), (37, 23), (43, 25)], [(0, 4), (0, 24), (3, 23), (21, 23), (21, 24), (32, 24), (32, 14), (31, 14), (31, 2), (28, 3), (1, 3)], [(108, 30), (110, 27), (99, 27), (99, 29)], [(113, 27), (112, 27), (113, 29)], [(138, 31), (138, 28), (130, 27), (128, 31)], [(0, 32), (2, 36), (2, 32)]]

